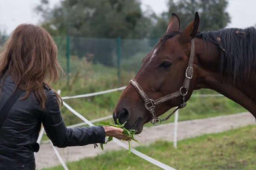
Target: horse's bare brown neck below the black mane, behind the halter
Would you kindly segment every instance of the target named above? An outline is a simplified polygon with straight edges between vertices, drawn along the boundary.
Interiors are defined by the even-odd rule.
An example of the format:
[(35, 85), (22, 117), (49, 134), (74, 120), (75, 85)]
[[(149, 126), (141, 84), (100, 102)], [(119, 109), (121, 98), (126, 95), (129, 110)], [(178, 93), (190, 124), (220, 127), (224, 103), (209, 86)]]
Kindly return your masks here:
[(219, 74), (220, 57), (218, 49), (212, 45), (207, 51), (204, 45), (198, 42), (196, 47), (195, 89), (208, 88), (243, 106), (256, 117), (256, 80), (252, 77), (247, 84), (236, 86), (232, 85)]

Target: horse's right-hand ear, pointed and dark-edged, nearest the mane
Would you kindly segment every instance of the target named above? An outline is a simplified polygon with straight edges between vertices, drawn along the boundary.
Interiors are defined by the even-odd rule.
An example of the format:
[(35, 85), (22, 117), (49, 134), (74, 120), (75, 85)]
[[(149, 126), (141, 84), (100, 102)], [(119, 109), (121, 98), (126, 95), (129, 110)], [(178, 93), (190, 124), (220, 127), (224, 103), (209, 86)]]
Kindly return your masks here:
[(181, 43), (188, 43), (190, 40), (195, 38), (198, 33), (200, 18), (198, 12), (195, 12), (194, 20), (181, 32), (179, 40)]

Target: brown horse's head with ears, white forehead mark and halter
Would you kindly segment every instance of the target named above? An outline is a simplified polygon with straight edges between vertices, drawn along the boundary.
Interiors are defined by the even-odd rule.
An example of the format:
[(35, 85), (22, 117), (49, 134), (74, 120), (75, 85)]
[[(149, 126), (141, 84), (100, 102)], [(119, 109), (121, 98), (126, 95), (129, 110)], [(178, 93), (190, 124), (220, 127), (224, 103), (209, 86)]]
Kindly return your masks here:
[(166, 34), (143, 58), (142, 67), (122, 93), (113, 111), (115, 121), (127, 121), (125, 127), (138, 134), (145, 123), (158, 123), (157, 117), (169, 109), (184, 107), (195, 85), (193, 39), (198, 27), (197, 12), (183, 31), (179, 17), (172, 13)]

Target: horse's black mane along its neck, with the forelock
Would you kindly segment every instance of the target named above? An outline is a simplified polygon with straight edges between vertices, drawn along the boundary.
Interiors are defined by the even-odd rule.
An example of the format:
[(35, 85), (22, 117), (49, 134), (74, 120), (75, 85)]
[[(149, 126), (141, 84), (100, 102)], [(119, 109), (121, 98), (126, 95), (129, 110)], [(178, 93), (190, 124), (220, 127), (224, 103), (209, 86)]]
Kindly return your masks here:
[[(164, 34), (161, 41), (180, 34), (173, 31)], [(220, 73), (229, 81), (240, 84), (256, 71), (256, 28), (223, 28), (218, 31), (202, 31), (197, 36), (204, 44), (211, 42), (220, 50)]]

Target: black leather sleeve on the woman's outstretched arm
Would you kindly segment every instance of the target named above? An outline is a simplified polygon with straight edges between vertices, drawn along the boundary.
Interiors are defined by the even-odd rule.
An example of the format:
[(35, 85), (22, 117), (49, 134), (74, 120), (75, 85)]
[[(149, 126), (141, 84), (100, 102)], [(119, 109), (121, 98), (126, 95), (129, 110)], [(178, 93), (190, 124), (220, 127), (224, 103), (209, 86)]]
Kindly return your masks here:
[(84, 146), (105, 143), (105, 130), (102, 126), (72, 127), (65, 126), (54, 91), (47, 91), (42, 123), (48, 138), (56, 147)]

